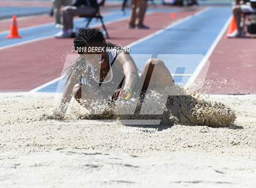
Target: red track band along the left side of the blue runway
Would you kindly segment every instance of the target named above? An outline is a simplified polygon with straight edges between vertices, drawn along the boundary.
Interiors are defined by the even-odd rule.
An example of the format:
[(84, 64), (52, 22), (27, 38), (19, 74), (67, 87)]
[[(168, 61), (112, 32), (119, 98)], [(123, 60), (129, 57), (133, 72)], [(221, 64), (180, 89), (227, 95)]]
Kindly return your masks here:
[[(177, 19), (195, 12), (177, 13)], [(110, 42), (127, 45), (171, 24), (170, 13), (146, 16), (150, 30), (129, 30), (127, 21), (107, 24)], [(157, 21), (156, 21), (157, 20)], [(26, 92), (60, 76), (73, 39), (44, 39), (0, 51), (0, 91)]]

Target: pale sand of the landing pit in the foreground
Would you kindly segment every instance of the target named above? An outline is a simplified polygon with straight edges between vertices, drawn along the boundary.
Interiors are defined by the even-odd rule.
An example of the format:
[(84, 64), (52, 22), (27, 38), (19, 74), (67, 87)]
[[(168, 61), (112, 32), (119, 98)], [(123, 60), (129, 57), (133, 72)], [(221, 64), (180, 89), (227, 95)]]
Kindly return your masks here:
[[(1, 187), (255, 187), (255, 95), (211, 95), (230, 127), (46, 120), (52, 94), (1, 93)], [(157, 127), (157, 126), (155, 126)]]

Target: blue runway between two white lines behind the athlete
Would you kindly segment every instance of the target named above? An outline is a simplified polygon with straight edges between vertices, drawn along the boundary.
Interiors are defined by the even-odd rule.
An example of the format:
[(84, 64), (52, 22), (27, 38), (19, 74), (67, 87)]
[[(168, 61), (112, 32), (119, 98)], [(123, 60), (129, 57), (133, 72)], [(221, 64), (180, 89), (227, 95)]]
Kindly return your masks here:
[[(138, 69), (142, 69), (147, 59), (157, 57), (165, 62), (176, 84), (186, 84), (230, 15), (230, 8), (210, 8), (201, 15), (133, 45), (131, 54)], [(62, 92), (63, 82), (54, 82), (38, 92)]]

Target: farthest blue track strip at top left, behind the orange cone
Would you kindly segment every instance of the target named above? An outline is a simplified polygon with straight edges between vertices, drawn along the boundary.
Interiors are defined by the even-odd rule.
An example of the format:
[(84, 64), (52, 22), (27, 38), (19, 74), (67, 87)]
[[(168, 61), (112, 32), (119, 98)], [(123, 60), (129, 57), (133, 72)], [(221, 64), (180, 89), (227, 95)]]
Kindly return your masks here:
[(0, 7), (0, 19), (16, 16), (40, 15), (49, 13), (49, 7)]

